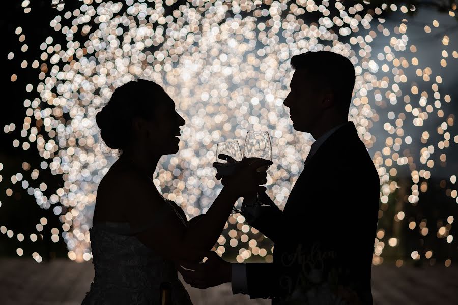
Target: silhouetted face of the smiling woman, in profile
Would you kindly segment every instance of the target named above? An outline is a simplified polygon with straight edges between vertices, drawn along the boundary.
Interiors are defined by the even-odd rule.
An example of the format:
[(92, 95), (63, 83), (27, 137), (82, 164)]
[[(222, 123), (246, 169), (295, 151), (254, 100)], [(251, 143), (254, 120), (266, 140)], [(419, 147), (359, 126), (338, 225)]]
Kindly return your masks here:
[(136, 140), (143, 144), (141, 146), (148, 150), (148, 154), (175, 154), (179, 149), (180, 127), (185, 120), (177, 113), (175, 102), (165, 92), (155, 97), (155, 102), (158, 104), (150, 119), (134, 119)]

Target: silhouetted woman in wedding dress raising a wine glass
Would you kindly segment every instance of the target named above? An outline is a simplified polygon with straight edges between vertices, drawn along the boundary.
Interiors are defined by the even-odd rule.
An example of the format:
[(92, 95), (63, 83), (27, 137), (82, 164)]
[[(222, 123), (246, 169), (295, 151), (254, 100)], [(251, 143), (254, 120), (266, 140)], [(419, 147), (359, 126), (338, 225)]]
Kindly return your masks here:
[(188, 221), (151, 178), (162, 155), (177, 153), (185, 124), (162, 87), (128, 82), (113, 92), (96, 120), (119, 159), (97, 190), (90, 229), (95, 277), (83, 304), (157, 304), (163, 283), (170, 287), (171, 303), (191, 304), (176, 264), (202, 260), (237, 199), (266, 182), (266, 173), (256, 169), (271, 162), (244, 159), (250, 166), (223, 187), (206, 214)]

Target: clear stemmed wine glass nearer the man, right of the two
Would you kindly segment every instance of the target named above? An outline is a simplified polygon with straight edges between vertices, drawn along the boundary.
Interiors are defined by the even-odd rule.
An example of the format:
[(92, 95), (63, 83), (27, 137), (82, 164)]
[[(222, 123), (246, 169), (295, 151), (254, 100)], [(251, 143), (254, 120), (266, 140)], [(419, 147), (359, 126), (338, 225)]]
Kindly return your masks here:
[[(269, 133), (267, 131), (249, 131), (245, 139), (244, 155), (245, 158), (255, 157), (272, 161), (272, 145), (270, 144)], [(258, 171), (267, 170), (267, 168), (261, 168)], [(256, 202), (246, 206), (269, 207), (269, 205), (261, 202), (259, 193), (257, 193)]]

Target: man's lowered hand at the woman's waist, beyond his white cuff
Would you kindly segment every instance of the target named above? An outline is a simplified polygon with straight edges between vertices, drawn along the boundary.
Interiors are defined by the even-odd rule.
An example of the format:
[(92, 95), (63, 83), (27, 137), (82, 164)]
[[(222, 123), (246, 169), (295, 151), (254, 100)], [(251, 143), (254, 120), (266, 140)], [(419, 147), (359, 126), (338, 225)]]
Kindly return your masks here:
[(204, 263), (180, 264), (180, 271), (186, 283), (194, 288), (205, 289), (231, 282), (232, 263), (226, 262), (216, 252), (206, 254)]

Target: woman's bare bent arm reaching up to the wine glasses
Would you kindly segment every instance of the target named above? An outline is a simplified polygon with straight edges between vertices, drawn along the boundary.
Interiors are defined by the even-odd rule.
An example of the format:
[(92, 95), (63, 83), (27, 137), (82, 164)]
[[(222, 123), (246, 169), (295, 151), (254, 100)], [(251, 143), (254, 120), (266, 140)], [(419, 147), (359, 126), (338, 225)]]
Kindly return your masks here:
[[(260, 179), (259, 174), (262, 175), (256, 173), (255, 178), (240, 179), (253, 188), (253, 181)], [(129, 222), (134, 229), (146, 227), (137, 235), (140, 241), (167, 259), (192, 262), (200, 261), (213, 247), (234, 203), (243, 194), (243, 188), (245, 192), (249, 188), (242, 186), (243, 183), (224, 186), (206, 214), (186, 227), (173, 209), (167, 208), (168, 203), (152, 181), (132, 174), (126, 177), (126, 183), (133, 199), (133, 206), (127, 208)]]

